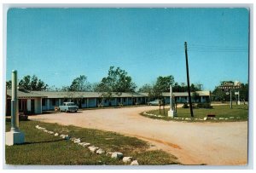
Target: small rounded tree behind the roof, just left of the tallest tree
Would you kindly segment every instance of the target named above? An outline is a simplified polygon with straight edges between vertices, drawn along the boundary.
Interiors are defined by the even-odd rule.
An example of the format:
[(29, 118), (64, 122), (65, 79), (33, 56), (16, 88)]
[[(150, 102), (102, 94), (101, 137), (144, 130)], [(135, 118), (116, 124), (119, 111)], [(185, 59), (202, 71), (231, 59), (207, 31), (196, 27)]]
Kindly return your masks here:
[(87, 77), (80, 75), (78, 78), (73, 79), (69, 91), (91, 91), (91, 85), (87, 81)]

